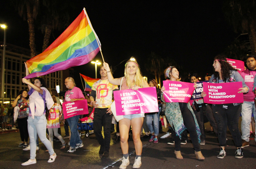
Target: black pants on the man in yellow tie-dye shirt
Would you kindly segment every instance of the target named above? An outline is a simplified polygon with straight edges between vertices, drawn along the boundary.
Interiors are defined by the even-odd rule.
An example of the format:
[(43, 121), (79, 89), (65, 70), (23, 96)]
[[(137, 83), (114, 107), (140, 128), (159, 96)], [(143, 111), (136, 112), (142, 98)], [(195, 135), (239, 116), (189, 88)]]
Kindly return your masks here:
[[(100, 143), (100, 146), (104, 147), (105, 152), (109, 152), (110, 148), (110, 133), (111, 133), (111, 123), (113, 114), (107, 114), (108, 108), (95, 108), (93, 117), (93, 130), (95, 136)], [(102, 136), (102, 126), (104, 131), (104, 139)]]

